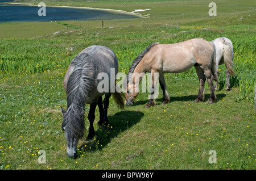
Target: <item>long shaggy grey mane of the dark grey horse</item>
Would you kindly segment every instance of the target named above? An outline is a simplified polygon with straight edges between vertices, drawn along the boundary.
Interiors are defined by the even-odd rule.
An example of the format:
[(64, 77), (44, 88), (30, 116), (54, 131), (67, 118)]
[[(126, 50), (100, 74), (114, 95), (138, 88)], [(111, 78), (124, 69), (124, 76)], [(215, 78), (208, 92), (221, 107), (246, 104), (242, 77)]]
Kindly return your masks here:
[(68, 78), (67, 113), (64, 116), (62, 129), (77, 139), (84, 136), (84, 106), (85, 99), (90, 97), (94, 87), (93, 74), (97, 71), (92, 58), (87, 53), (81, 53), (71, 62), (75, 66)]

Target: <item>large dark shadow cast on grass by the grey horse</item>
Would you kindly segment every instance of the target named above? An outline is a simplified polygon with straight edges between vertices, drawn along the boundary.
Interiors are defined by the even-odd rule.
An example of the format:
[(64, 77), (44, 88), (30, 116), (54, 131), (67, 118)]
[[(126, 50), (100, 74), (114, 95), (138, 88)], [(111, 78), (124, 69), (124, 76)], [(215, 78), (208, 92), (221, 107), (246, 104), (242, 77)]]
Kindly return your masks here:
[(82, 140), (82, 144), (77, 150), (79, 157), (81, 157), (81, 154), (88, 151), (92, 152), (103, 149), (114, 137), (117, 137), (118, 134), (141, 121), (143, 116), (144, 113), (140, 111), (121, 111), (112, 116), (108, 116), (108, 129), (104, 129), (98, 125), (99, 128), (95, 131), (95, 136), (92, 140)]

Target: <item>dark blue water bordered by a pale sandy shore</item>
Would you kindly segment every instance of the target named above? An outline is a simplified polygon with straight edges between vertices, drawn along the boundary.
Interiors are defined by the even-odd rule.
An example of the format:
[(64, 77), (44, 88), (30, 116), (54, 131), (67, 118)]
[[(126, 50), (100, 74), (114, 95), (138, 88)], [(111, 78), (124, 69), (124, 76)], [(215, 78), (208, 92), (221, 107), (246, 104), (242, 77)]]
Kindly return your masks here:
[(46, 22), (59, 20), (109, 20), (130, 19), (137, 16), (102, 10), (86, 10), (62, 7), (47, 7), (46, 16), (39, 16), (37, 6), (1, 5), (0, 23), (3, 22)]

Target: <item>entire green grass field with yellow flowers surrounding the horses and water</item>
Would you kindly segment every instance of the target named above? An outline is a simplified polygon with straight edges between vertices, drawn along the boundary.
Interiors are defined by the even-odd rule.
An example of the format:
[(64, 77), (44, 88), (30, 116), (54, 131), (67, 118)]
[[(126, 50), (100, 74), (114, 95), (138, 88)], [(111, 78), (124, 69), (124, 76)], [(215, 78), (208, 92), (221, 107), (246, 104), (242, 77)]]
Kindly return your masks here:
[[(100, 20), (0, 24), (0, 169), (255, 169), (255, 2), (216, 1), (213, 18), (208, 16), (209, 2), (46, 2), (151, 11), (144, 11), (150, 18), (105, 21), (103, 29)], [(205, 101), (193, 103), (199, 90), (194, 69), (166, 74), (169, 104), (161, 105), (160, 88), (156, 106), (148, 109), (147, 93), (139, 94), (125, 111), (111, 98), (109, 131), (96, 124), (97, 109), (96, 137), (80, 140), (77, 159), (67, 157), (61, 131), (60, 107), (67, 107), (63, 79), (82, 49), (113, 49), (119, 71), (127, 73), (150, 43), (222, 36), (234, 46), (232, 91), (225, 91), (224, 65), (219, 67), (220, 89), (212, 105), (207, 104), (208, 85)], [(87, 114), (89, 106), (85, 110)], [(86, 136), (86, 115), (85, 123)], [(39, 163), (39, 150), (46, 151), (46, 163)], [(216, 151), (217, 163), (209, 163), (210, 150)]]

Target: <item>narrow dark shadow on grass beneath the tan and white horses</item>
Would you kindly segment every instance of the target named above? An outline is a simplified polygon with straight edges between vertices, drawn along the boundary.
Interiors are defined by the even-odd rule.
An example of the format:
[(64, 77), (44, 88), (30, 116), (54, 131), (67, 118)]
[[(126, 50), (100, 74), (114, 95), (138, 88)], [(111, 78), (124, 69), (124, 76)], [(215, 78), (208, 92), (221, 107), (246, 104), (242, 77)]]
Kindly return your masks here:
[[(219, 100), (222, 100), (225, 98), (226, 94), (216, 94), (216, 102)], [(161, 105), (163, 102), (163, 98), (159, 96), (160, 98), (155, 99), (156, 106)], [(197, 95), (185, 95), (185, 96), (176, 96), (176, 97), (170, 97), (170, 103), (172, 102), (194, 102), (194, 100), (197, 98)], [(205, 103), (209, 102), (210, 94), (205, 94), (204, 101)], [(139, 105), (145, 105), (147, 104), (148, 100), (138, 100), (137, 102), (134, 102), (133, 106), (139, 106)]]

